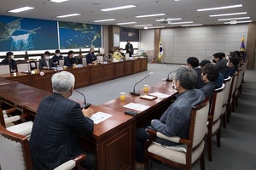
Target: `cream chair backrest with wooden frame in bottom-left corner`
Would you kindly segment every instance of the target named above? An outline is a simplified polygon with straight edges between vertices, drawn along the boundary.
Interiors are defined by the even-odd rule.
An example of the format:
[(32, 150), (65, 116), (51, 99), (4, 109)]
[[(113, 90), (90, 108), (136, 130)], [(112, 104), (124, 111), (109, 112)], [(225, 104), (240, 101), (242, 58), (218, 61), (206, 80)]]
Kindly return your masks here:
[(26, 137), (11, 133), (0, 125), (0, 165), (4, 169), (32, 170)]

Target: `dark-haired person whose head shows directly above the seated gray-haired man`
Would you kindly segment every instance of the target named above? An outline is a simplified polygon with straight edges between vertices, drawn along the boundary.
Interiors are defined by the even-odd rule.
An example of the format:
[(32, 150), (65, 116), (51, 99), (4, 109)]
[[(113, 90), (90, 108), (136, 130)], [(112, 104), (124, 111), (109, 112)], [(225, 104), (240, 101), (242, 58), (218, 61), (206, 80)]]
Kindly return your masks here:
[(201, 88), (204, 86), (204, 82), (201, 80), (201, 69), (198, 67), (199, 60), (196, 57), (189, 57), (187, 59), (187, 66), (192, 68), (197, 73), (197, 81), (195, 83), (195, 88)]

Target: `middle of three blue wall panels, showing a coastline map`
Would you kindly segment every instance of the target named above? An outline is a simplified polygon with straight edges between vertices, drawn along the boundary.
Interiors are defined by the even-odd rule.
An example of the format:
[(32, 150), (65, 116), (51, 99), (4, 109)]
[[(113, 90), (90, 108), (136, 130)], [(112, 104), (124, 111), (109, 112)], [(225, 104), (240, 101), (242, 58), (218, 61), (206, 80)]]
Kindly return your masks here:
[(59, 22), (60, 46), (65, 48), (102, 48), (102, 26)]

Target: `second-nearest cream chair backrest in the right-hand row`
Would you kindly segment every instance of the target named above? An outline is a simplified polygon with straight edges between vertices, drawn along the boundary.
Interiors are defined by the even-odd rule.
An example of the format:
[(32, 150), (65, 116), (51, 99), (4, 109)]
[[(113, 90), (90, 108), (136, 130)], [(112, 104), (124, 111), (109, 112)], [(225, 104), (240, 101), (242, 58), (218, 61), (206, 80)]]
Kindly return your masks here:
[(225, 95), (224, 88), (225, 88), (225, 85), (223, 83), (222, 87), (215, 89), (212, 95), (212, 106), (211, 106), (212, 108), (210, 111), (210, 115), (213, 116), (213, 119), (212, 119), (213, 122), (218, 120), (222, 112), (222, 105), (223, 105), (224, 95)]

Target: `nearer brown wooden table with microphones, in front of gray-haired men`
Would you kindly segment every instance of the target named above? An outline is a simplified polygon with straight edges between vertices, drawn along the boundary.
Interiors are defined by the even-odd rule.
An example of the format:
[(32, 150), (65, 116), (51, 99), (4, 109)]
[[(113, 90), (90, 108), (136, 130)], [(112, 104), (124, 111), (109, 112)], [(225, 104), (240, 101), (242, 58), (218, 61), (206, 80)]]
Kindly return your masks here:
[[(139, 92), (141, 95), (144, 94), (143, 90)], [(96, 152), (98, 169), (134, 169), (136, 128), (143, 127), (153, 118), (159, 118), (172, 104), (173, 94), (176, 93), (171, 88), (171, 82), (150, 86), (148, 93), (154, 92), (169, 94), (170, 97), (148, 100), (126, 94), (125, 101), (113, 99), (102, 105), (91, 105), (95, 112), (101, 111), (112, 115), (107, 120), (95, 124), (90, 137), (80, 136), (84, 150)], [(51, 93), (38, 88), (0, 78), (0, 98), (32, 116), (35, 115), (41, 99), (49, 94)], [(137, 111), (137, 116), (125, 115), (124, 111), (131, 111), (124, 108), (124, 105), (129, 103), (147, 105), (149, 108)]]

